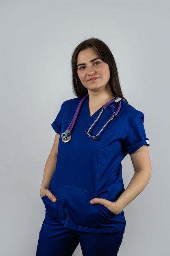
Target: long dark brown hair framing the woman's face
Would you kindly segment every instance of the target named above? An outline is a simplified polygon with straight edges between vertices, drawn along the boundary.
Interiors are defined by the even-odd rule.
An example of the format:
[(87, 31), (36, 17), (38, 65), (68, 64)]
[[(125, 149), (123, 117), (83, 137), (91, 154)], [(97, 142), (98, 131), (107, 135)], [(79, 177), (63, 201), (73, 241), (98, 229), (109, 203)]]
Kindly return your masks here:
[(83, 41), (76, 47), (76, 49), (72, 54), (72, 86), (73, 86), (74, 94), (77, 97), (84, 97), (88, 93), (87, 88), (83, 86), (77, 74), (77, 56), (79, 52), (86, 50), (88, 48), (94, 48), (98, 53), (99, 58), (109, 65), (109, 70), (110, 70), (109, 84), (110, 84), (112, 93), (114, 95), (117, 94), (119, 97), (127, 101), (122, 94), (122, 90), (119, 82), (118, 70), (116, 67), (113, 54), (111, 53), (109, 47), (98, 38), (89, 38)]

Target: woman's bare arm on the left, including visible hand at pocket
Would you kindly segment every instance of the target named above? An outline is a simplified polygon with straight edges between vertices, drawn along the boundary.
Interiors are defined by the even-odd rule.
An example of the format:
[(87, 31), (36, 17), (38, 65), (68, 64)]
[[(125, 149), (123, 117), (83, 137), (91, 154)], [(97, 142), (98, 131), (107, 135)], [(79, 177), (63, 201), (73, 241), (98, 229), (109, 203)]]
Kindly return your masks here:
[(50, 151), (50, 155), (48, 156), (48, 159), (44, 168), (44, 175), (43, 175), (43, 180), (42, 180), (41, 189), (40, 189), (41, 198), (44, 195), (46, 195), (52, 202), (57, 202), (57, 198), (54, 195), (52, 195), (49, 188), (50, 188), (50, 182), (51, 182), (52, 176), (56, 168), (59, 137), (60, 135), (56, 133), (54, 143)]

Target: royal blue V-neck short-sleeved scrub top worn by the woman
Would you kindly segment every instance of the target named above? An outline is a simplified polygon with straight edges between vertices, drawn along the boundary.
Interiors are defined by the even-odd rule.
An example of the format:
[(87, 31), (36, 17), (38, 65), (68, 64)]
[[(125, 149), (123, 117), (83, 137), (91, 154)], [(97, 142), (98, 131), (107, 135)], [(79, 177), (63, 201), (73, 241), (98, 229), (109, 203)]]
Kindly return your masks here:
[[(59, 135), (67, 130), (82, 98), (65, 101), (52, 127)], [(101, 108), (90, 117), (88, 97), (85, 99), (72, 139), (63, 143), (60, 137), (57, 165), (50, 190), (57, 197), (42, 199), (46, 216), (67, 228), (95, 233), (113, 233), (125, 228), (124, 212), (114, 214), (101, 204), (90, 204), (92, 198), (116, 201), (124, 191), (122, 159), (143, 145), (149, 145), (144, 130), (144, 114), (122, 100), (118, 115), (100, 133), (99, 140), (90, 138), (88, 130)], [(118, 103), (111, 103), (118, 108)], [(96, 135), (114, 112), (108, 106), (90, 131)]]

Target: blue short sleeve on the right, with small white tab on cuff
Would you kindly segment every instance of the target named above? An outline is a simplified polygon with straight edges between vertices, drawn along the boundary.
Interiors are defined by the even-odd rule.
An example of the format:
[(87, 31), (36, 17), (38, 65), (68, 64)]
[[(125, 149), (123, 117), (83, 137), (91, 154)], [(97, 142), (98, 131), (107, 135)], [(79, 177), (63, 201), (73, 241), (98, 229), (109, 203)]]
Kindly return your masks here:
[(124, 142), (127, 153), (132, 154), (143, 145), (149, 146), (149, 139), (146, 138), (144, 129), (144, 114), (140, 112), (133, 120), (129, 134)]

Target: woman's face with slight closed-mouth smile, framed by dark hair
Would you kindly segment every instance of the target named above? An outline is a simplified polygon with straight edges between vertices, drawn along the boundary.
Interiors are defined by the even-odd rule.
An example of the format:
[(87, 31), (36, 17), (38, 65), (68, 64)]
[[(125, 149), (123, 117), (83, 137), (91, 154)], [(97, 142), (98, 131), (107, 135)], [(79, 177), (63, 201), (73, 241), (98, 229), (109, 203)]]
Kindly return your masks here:
[(79, 52), (77, 56), (77, 74), (88, 91), (110, 90), (109, 65), (100, 60), (94, 48)]

